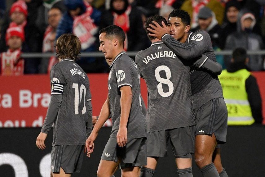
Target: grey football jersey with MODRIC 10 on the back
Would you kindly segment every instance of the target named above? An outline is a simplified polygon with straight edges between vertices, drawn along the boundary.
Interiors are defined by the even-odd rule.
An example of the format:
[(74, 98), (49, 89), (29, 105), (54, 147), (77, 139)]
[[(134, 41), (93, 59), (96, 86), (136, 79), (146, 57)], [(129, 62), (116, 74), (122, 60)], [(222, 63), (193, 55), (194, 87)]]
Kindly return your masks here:
[(54, 122), (52, 145), (79, 145), (86, 141), (88, 121), (86, 102), (91, 100), (89, 80), (76, 62), (64, 59), (50, 73), (51, 95), (62, 94), (62, 102)]

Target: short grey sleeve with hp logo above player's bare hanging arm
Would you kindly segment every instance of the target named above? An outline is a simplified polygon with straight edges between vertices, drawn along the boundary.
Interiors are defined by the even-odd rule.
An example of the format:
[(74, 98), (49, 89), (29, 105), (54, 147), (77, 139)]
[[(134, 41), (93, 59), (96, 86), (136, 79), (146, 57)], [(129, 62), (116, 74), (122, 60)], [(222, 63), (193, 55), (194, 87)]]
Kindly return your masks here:
[(116, 74), (118, 89), (125, 85), (132, 87), (131, 67), (132, 63), (129, 61), (129, 59), (128, 61), (126, 60), (117, 61), (115, 74)]

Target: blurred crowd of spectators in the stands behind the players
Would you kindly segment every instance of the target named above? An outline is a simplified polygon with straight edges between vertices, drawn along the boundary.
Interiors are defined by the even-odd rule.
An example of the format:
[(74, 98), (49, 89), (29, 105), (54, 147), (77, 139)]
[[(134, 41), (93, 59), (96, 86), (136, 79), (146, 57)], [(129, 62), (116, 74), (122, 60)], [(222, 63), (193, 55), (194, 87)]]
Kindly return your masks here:
[[(150, 46), (144, 31), (147, 17), (166, 19), (174, 9), (187, 11), (191, 31), (210, 34), (216, 51), (263, 50), (265, 43), (264, 0), (0, 0), (1, 75), (49, 73), (58, 59), (24, 58), (21, 53), (55, 52), (55, 41), (64, 33), (76, 34), (81, 52), (96, 52), (99, 29), (120, 26), (126, 34), (125, 50)], [(225, 69), (232, 56), (216, 56)], [(104, 58), (82, 57), (78, 64), (86, 72), (108, 72)], [(264, 70), (264, 56), (250, 55), (249, 70)]]

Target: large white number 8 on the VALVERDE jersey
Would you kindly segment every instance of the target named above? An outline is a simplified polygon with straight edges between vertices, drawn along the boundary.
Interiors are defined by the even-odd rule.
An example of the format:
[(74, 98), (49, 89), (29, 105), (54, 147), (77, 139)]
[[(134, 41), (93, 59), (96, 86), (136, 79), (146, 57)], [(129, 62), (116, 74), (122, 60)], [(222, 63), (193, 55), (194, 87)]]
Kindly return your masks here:
[[(166, 72), (166, 79), (160, 77), (160, 71), (163, 71), (163, 70)], [(157, 81), (159, 82), (159, 84), (157, 85), (158, 93), (162, 97), (169, 97), (173, 93), (173, 90), (174, 90), (173, 83), (171, 82), (171, 80), (169, 80), (171, 78), (171, 71), (169, 67), (165, 65), (158, 66), (157, 69), (155, 70), (155, 76), (156, 76)], [(168, 92), (164, 92), (162, 84), (168, 85)]]

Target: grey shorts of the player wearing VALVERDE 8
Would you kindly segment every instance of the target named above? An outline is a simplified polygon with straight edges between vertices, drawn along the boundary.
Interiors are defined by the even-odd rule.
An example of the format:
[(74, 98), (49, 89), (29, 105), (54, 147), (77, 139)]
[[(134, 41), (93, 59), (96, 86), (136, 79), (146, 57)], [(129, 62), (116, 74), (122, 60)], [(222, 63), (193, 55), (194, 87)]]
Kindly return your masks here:
[(176, 158), (192, 158), (195, 126), (147, 132), (147, 156), (166, 157), (170, 141)]

